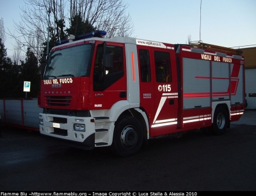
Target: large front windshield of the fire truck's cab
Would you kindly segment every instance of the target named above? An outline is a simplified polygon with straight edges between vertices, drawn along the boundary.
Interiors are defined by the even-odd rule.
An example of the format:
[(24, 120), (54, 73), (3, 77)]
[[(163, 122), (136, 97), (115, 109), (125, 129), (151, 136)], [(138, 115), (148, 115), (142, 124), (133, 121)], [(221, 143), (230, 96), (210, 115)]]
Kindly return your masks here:
[(44, 78), (80, 77), (90, 72), (92, 45), (78, 45), (51, 52)]

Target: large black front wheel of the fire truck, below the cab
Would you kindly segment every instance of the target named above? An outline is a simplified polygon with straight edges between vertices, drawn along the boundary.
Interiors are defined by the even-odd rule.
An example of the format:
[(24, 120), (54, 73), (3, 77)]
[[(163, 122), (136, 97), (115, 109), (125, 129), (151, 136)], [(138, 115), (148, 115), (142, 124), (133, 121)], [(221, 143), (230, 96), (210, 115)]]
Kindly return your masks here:
[(143, 128), (134, 117), (124, 117), (115, 126), (111, 149), (119, 156), (138, 153), (143, 142)]

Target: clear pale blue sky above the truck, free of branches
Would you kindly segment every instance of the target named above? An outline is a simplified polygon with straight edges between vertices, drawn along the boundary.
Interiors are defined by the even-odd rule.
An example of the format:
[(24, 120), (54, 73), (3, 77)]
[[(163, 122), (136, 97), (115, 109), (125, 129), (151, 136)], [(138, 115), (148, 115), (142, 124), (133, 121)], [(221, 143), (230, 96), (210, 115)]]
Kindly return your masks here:
[[(202, 1), (202, 6), (200, 3)], [(0, 0), (6, 33), (21, 22), (23, 0)], [(165, 43), (204, 43), (223, 47), (256, 47), (256, 0), (123, 0), (134, 24), (132, 37)], [(201, 12), (201, 19), (200, 19)], [(201, 24), (201, 28), (200, 28)], [(104, 29), (102, 29), (104, 30)], [(15, 33), (15, 35), (19, 35)], [(15, 40), (6, 34), (7, 54)]]

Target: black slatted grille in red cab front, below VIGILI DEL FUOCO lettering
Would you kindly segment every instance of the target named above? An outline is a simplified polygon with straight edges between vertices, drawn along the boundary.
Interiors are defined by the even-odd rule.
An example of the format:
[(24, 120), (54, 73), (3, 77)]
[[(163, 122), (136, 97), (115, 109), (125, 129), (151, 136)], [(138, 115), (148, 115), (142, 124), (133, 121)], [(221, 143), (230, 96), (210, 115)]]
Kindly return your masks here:
[(71, 96), (46, 96), (48, 106), (68, 107), (71, 103)]

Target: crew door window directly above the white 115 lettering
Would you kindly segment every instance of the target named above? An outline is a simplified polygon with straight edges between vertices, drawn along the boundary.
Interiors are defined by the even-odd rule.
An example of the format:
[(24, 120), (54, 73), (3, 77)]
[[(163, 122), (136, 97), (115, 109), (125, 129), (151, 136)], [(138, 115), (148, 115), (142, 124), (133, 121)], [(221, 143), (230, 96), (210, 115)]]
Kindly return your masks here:
[(172, 82), (170, 54), (168, 52), (154, 52), (156, 81)]

